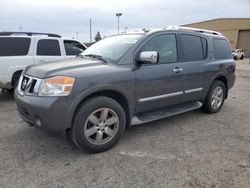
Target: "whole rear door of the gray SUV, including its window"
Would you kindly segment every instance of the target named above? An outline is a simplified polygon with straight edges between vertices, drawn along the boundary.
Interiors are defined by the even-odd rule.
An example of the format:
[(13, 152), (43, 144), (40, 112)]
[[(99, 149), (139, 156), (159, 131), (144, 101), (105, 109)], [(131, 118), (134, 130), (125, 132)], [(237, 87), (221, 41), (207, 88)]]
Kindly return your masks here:
[(204, 72), (209, 62), (208, 41), (204, 37), (191, 34), (180, 34), (180, 59), (182, 62), (183, 101), (202, 100), (210, 81), (210, 73)]

